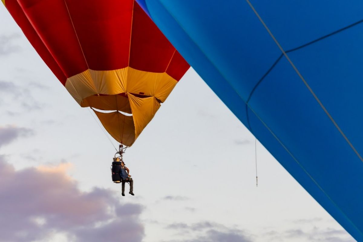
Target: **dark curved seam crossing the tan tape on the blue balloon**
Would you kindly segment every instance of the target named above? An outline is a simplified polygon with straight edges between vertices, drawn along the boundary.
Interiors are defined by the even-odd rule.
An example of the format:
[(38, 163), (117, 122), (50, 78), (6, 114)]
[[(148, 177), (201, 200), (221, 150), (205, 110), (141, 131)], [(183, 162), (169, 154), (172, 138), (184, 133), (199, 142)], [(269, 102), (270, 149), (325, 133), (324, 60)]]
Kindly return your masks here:
[[(311, 44), (314, 44), (315, 42), (318, 42), (318, 41), (321, 41), (321, 40), (323, 40), (323, 39), (325, 39), (325, 38), (327, 38), (327, 37), (330, 37), (330, 36), (332, 36), (332, 35), (334, 35), (334, 34), (337, 34), (337, 33), (339, 33), (339, 32), (342, 32), (343, 30), (346, 30), (346, 29), (349, 29), (349, 28), (351, 28), (351, 27), (353, 27), (353, 26), (355, 26), (355, 25), (358, 25), (358, 24), (360, 24), (360, 23), (362, 23), (363, 22), (363, 20), (359, 20), (359, 21), (357, 21), (357, 22), (355, 22), (355, 23), (353, 23), (353, 24), (350, 24), (350, 25), (348, 25), (348, 26), (345, 26), (344, 28), (341, 28), (341, 29), (338, 29), (338, 30), (336, 30), (336, 31), (334, 31), (334, 32), (331, 32), (331, 33), (329, 33), (329, 34), (326, 34), (325, 36), (322, 36), (322, 37), (320, 37), (320, 38), (317, 38), (316, 40), (313, 40), (313, 41), (310, 41), (310, 42), (308, 42), (308, 43), (306, 43), (306, 44), (303, 44), (303, 45), (301, 45), (301, 46), (298, 46), (298, 47), (296, 47), (296, 48), (294, 48), (294, 49), (290, 49), (290, 50), (286, 50), (285, 51), (285, 53), (289, 53), (289, 52), (293, 52), (293, 51), (295, 51), (295, 50), (298, 50), (298, 49), (302, 49), (302, 48), (304, 48), (304, 47), (306, 47), (306, 46), (308, 46), (308, 45), (311, 45)], [(265, 77), (270, 73), (270, 71), (276, 66), (276, 64), (281, 60), (281, 57), (282, 56), (284, 56), (284, 54), (281, 54), (280, 55), (280, 57), (278, 57), (277, 58), (277, 60), (273, 63), (273, 65), (270, 67), (270, 69), (268, 70), (268, 71), (266, 71), (266, 73), (261, 77), (261, 79), (260, 80), (258, 80), (258, 82), (256, 83), (256, 85), (253, 87), (253, 89), (252, 89), (252, 91), (251, 91), (251, 93), (250, 93), (250, 95), (248, 96), (248, 99), (247, 99), (247, 102), (246, 103), (248, 103), (249, 101), (250, 101), (250, 99), (251, 99), (251, 97), (252, 97), (252, 95), (253, 95), (253, 93), (254, 93), (254, 91), (256, 90), (256, 88), (261, 84), (261, 82), (265, 79)], [(249, 128), (250, 128), (250, 130), (252, 129), (251, 128), (251, 126), (250, 126), (250, 122), (249, 122), (249, 115), (248, 115), (248, 111), (247, 111), (248, 109), (247, 109), (247, 106), (246, 106), (246, 117), (247, 117), (247, 122), (248, 122), (248, 126), (249, 126)]]

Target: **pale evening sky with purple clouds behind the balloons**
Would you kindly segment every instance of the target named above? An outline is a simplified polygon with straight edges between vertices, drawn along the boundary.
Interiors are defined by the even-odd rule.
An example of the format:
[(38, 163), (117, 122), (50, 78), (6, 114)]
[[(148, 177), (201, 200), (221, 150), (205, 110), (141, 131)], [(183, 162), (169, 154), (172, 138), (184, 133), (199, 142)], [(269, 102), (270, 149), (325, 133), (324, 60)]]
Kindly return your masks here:
[[(190, 69), (125, 163), (0, 6), (0, 242), (355, 241)], [(126, 184), (126, 189), (128, 185)]]

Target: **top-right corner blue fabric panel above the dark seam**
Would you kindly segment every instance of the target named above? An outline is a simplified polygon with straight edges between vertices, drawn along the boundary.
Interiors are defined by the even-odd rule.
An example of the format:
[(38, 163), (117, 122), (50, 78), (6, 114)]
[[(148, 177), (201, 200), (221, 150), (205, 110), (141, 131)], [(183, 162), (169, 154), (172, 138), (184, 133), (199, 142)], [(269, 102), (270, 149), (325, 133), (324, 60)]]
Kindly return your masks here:
[(363, 20), (363, 1), (358, 0), (250, 2), (285, 51)]

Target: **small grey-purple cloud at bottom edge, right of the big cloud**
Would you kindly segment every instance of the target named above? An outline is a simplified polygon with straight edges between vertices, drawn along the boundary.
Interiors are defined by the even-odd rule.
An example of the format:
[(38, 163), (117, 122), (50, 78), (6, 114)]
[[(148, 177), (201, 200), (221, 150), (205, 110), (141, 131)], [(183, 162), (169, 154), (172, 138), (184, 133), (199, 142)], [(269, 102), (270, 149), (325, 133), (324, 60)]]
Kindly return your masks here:
[(192, 225), (186, 223), (172, 223), (166, 229), (189, 235), (187, 239), (173, 240), (169, 242), (251, 242), (250, 235), (245, 231), (229, 228), (214, 222), (199, 222)]

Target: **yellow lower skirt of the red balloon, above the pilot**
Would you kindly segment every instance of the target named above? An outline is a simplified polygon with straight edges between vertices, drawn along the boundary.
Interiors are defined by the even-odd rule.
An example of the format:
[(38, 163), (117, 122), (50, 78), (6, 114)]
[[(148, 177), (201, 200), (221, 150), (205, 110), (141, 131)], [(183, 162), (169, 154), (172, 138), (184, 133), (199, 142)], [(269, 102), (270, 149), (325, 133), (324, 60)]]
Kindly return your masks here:
[[(153, 73), (125, 67), (111, 71), (88, 69), (68, 78), (65, 87), (82, 107), (97, 108), (99, 111), (94, 111), (107, 132), (115, 140), (130, 146), (176, 83), (165, 72)], [(105, 113), (100, 110), (115, 112)], [(118, 111), (132, 116), (125, 116)]]

